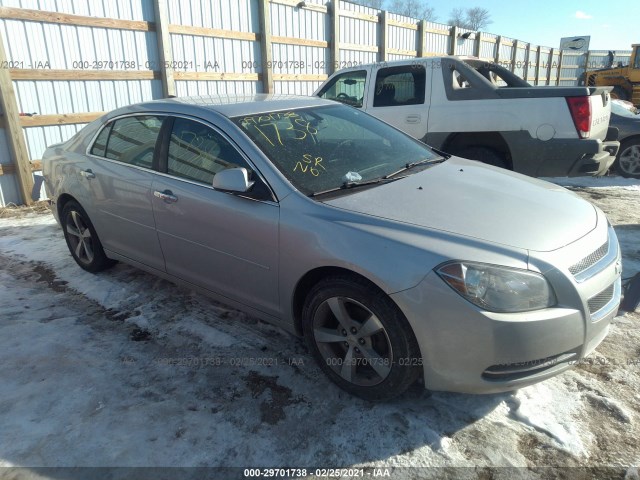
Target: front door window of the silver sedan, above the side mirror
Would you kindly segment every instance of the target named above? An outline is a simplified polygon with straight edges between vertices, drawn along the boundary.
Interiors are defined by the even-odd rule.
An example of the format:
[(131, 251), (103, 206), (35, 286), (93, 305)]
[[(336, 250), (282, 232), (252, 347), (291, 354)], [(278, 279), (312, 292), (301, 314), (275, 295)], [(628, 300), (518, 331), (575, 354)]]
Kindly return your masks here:
[(251, 168), (236, 148), (210, 127), (176, 118), (169, 141), (167, 173), (211, 185), (216, 173), (227, 168)]

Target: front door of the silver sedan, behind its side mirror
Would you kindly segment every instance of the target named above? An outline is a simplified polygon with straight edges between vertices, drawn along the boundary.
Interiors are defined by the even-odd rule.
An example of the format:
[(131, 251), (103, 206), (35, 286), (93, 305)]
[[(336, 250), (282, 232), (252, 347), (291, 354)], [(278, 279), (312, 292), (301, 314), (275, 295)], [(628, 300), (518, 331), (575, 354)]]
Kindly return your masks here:
[[(153, 208), (167, 272), (270, 314), (279, 311), (280, 209), (235, 144), (199, 119), (167, 126)], [(244, 167), (255, 181), (247, 195), (212, 187), (215, 174)]]

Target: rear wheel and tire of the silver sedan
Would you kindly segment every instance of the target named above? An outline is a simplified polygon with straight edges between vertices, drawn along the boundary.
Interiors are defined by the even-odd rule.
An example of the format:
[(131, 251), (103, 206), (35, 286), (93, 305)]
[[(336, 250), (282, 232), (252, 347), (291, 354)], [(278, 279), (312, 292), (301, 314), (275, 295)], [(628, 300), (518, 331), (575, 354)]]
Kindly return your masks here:
[(71, 256), (87, 272), (100, 272), (116, 261), (108, 258), (87, 212), (77, 202), (70, 200), (60, 216), (64, 239)]

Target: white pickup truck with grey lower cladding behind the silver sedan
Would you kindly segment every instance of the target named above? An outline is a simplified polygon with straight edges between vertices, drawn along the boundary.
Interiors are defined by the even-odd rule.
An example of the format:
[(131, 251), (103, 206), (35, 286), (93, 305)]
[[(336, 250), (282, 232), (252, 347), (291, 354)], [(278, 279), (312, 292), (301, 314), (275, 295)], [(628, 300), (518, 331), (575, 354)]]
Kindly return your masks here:
[(533, 87), (498, 64), (431, 57), (359, 65), (315, 95), (440, 150), (531, 176), (602, 175), (620, 147), (611, 87)]

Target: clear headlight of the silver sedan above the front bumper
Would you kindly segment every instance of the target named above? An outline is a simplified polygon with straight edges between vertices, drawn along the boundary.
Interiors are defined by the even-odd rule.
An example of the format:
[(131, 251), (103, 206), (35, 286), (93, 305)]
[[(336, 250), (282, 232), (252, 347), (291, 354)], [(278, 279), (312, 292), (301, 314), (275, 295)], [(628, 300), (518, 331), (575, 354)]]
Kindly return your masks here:
[(528, 270), (454, 262), (436, 273), (456, 292), (492, 312), (526, 312), (552, 307), (556, 296), (549, 282)]

